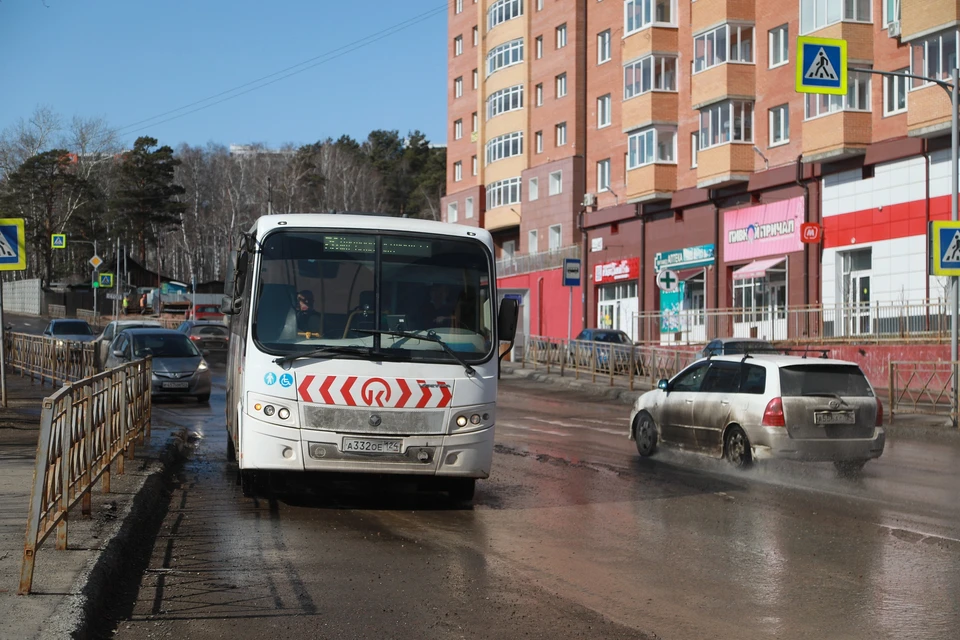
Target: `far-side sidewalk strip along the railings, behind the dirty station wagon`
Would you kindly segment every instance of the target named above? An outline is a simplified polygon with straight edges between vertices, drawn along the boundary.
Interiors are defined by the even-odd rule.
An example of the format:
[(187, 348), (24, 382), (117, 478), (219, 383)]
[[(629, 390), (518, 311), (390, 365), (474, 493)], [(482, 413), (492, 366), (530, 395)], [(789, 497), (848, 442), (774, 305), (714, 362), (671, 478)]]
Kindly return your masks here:
[[(545, 385), (550, 385), (558, 389), (576, 389), (584, 393), (596, 396), (598, 399), (607, 400), (612, 403), (622, 403), (624, 411), (629, 413), (629, 407), (634, 401), (644, 393), (652, 389), (649, 380), (644, 378), (634, 379), (633, 390), (630, 389), (629, 380), (620, 376), (614, 376), (613, 385), (610, 384), (610, 376), (597, 375), (596, 382), (591, 381), (589, 373), (580, 373), (580, 379), (575, 376), (575, 372), (567, 370), (560, 375), (559, 367), (551, 367), (550, 373), (547, 368), (540, 365), (536, 369), (532, 364), (527, 364), (526, 368), (521, 367), (515, 362), (503, 362), (504, 378), (523, 378), (536, 381)], [(883, 395), (880, 400), (884, 401), (884, 428), (888, 437), (922, 437), (922, 438), (960, 438), (960, 430), (953, 428), (950, 419), (943, 416), (932, 416), (924, 414), (898, 413), (894, 422), (890, 423), (890, 413), (886, 411), (886, 402)]]

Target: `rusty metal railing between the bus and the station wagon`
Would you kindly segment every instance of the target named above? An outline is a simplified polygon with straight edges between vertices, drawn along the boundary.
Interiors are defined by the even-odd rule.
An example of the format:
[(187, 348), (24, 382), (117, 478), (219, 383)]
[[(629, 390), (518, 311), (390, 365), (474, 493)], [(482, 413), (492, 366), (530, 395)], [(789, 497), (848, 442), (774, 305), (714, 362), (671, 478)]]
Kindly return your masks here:
[(546, 367), (547, 373), (558, 370), (560, 375), (573, 370), (578, 380), (589, 375), (593, 382), (598, 377), (609, 380), (610, 386), (626, 379), (633, 390), (638, 380), (655, 386), (660, 378), (673, 377), (699, 357), (698, 352), (663, 347), (528, 336), (523, 364)]

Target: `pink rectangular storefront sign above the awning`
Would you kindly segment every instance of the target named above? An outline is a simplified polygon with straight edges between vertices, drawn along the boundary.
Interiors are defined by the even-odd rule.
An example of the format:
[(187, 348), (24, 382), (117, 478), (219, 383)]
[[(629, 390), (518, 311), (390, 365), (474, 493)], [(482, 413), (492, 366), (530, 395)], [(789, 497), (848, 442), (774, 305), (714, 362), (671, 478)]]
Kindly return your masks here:
[(802, 224), (802, 197), (727, 211), (723, 258), (729, 263), (800, 251)]

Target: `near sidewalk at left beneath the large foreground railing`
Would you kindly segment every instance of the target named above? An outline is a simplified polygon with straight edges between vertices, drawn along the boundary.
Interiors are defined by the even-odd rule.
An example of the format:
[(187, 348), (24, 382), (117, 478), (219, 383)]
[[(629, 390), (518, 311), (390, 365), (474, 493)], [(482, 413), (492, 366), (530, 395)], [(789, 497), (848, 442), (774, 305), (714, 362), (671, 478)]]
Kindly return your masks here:
[(55, 388), (7, 373), (8, 407), (0, 408), (0, 638), (67, 638), (83, 629), (116, 586), (125, 541), (149, 531), (162, 504), (165, 475), (183, 447), (182, 429), (157, 424), (126, 473), (112, 475), (112, 492), (94, 487), (93, 515), (70, 512), (68, 548), (55, 534), (37, 550), (33, 593), (18, 596), (27, 512), (33, 484), (43, 398)]

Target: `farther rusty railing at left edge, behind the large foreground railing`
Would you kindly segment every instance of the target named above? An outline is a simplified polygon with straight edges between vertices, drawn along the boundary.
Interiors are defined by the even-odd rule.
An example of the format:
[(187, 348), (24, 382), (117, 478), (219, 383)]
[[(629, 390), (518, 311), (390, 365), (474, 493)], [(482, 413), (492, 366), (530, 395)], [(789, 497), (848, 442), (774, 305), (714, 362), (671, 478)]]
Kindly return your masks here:
[(65, 342), (26, 333), (4, 332), (7, 366), (30, 380), (63, 384), (97, 373), (97, 349), (89, 342)]

